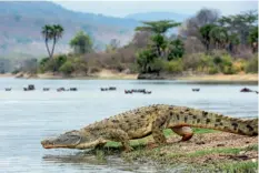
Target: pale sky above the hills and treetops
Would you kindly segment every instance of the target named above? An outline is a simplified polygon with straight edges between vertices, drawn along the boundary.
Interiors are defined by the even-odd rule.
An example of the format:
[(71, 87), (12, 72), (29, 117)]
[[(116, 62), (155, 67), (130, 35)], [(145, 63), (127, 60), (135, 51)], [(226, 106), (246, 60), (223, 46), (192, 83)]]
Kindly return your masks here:
[(81, 12), (90, 13), (102, 13), (112, 17), (126, 17), (131, 13), (139, 12), (176, 12), (182, 14), (193, 14), (201, 8), (212, 8), (218, 9), (221, 14), (236, 14), (242, 11), (258, 9), (257, 0), (207, 0), (207, 1), (177, 1), (177, 0), (166, 0), (166, 1), (155, 1), (155, 0), (120, 0), (120, 1), (59, 1), (52, 0), (53, 2), (61, 4), (62, 7)]

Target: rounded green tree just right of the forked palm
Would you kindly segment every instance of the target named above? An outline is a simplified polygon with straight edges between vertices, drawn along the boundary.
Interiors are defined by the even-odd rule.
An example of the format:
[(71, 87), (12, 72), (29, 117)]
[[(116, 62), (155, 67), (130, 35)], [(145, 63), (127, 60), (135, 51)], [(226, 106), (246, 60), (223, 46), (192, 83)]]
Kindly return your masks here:
[(83, 54), (92, 52), (92, 41), (83, 31), (79, 31), (69, 44), (73, 48), (74, 53)]

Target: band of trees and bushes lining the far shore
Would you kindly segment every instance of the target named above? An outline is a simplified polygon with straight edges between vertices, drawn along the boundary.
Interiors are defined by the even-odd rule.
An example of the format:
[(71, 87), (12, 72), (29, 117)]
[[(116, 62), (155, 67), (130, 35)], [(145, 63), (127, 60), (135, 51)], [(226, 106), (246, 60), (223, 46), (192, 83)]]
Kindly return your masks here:
[[(247, 11), (220, 17), (217, 10), (201, 9), (196, 16), (178, 23), (171, 20), (143, 22), (135, 37), (121, 47), (113, 39), (104, 52), (94, 52), (88, 33), (78, 32), (70, 41), (72, 53), (54, 55), (54, 45), (62, 39), (59, 24), (44, 26), (42, 34), (49, 53), (30, 72), (89, 74), (101, 69), (127, 73), (181, 74), (258, 72), (258, 14)], [(178, 34), (167, 37), (171, 28)], [(49, 43), (52, 41), (52, 47)], [(16, 71), (18, 72), (19, 69)]]

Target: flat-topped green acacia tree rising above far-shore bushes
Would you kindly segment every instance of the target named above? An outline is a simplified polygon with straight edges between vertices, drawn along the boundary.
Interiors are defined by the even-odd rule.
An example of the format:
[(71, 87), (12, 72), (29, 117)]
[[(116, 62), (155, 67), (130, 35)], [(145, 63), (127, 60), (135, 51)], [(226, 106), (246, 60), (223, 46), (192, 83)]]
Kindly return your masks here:
[(172, 20), (160, 20), (160, 21), (146, 21), (142, 22), (143, 27), (137, 27), (136, 31), (150, 31), (153, 33), (151, 37), (152, 42), (155, 43), (157, 55), (161, 57), (162, 50), (165, 49), (166, 39), (165, 33), (173, 28), (180, 26), (179, 22), (175, 22)]

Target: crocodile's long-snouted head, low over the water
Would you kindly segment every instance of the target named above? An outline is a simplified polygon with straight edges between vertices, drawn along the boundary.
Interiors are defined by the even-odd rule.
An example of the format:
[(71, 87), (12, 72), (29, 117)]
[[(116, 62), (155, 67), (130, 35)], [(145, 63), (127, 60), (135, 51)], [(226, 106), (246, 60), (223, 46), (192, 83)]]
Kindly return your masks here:
[(69, 131), (57, 138), (50, 138), (41, 141), (44, 149), (89, 149), (102, 143), (102, 140), (94, 138), (88, 132)]

